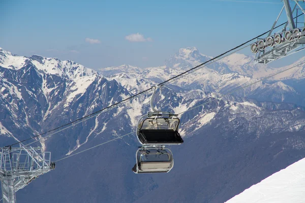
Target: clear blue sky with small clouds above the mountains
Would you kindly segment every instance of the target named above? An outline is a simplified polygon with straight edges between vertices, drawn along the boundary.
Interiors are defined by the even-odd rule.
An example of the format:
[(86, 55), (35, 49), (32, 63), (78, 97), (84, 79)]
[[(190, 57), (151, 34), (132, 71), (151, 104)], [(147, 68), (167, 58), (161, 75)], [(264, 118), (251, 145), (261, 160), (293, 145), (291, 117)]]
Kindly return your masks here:
[[(93, 69), (124, 63), (157, 66), (182, 47), (221, 54), (270, 29), (282, 6), (280, 0), (1, 1), (0, 47)], [(282, 60), (289, 63), (303, 55)]]

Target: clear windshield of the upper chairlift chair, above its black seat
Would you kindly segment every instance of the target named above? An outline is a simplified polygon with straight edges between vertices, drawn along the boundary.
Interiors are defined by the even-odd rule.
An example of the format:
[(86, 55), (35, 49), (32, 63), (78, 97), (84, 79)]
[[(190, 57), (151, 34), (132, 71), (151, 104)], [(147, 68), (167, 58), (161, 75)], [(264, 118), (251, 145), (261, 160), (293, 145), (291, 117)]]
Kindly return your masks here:
[(179, 122), (178, 118), (147, 118), (142, 122), (140, 129), (172, 129), (176, 131)]

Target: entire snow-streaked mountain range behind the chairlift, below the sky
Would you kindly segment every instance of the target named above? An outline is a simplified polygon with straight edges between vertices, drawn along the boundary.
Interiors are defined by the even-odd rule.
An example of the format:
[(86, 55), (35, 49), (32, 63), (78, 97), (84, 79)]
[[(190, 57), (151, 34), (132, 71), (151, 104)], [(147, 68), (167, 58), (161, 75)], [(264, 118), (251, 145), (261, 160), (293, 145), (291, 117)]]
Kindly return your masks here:
[[(185, 143), (171, 148), (175, 157), (171, 173), (134, 175), (130, 169), (139, 144), (129, 136), (56, 163), (56, 170), (18, 191), (17, 199), (26, 201), (35, 195), (31, 201), (47, 203), (224, 202), (299, 160), (305, 152), (301, 136), (305, 109), (298, 104), (305, 94), (298, 85), (286, 81), (259, 81), (255, 71), (251, 73), (247, 56), (236, 56), (239, 58), (218, 61), (179, 78), (157, 92), (157, 109), (175, 113), (190, 110), (180, 115)], [(163, 66), (113, 66), (97, 73), (73, 61), (17, 56), (1, 49), (2, 144), (96, 112), (209, 58), (196, 48), (186, 48)], [(236, 88), (239, 90), (233, 92)], [(37, 145), (51, 151), (56, 160), (134, 131), (138, 118), (149, 111), (150, 94), (71, 126)], [(200, 107), (192, 109), (196, 106)]]

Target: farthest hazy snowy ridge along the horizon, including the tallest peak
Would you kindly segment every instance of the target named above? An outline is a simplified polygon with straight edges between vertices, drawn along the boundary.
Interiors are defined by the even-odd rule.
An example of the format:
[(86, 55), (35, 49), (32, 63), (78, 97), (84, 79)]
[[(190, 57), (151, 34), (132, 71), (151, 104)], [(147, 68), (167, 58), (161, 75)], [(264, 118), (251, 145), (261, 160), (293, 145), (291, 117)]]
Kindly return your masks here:
[[(184, 72), (212, 58), (212, 56), (206, 56), (200, 53), (199, 50), (195, 47), (188, 47), (181, 48), (178, 50), (178, 52), (169, 56), (169, 58), (165, 60), (164, 66), (141, 69), (140, 67), (124, 64), (120, 66), (101, 68), (99, 69), (99, 72), (105, 76), (110, 76), (117, 73), (141, 73), (144, 74), (145, 78), (149, 78), (153, 77), (154, 75), (149, 75), (149, 73), (151, 72), (155, 73), (154, 76), (157, 76), (156, 74), (160, 73), (160, 71), (161, 73), (159, 75), (162, 75), (165, 71), (170, 73), (172, 72), (172, 70), (175, 70), (177, 72)], [(269, 67), (268, 65), (255, 63), (253, 56), (233, 53), (220, 60), (217, 60), (214, 63), (207, 65), (206, 67), (208, 67), (208, 69), (215, 70), (220, 73), (238, 73), (239, 75), (245, 75), (254, 78), (264, 78), (279, 71), (286, 70), (289, 67), (295, 66), (293, 69), (285, 71), (271, 78), (271, 80), (277, 81), (288, 79), (304, 79), (304, 61), (305, 57), (302, 57), (291, 65), (282, 67), (280, 69), (275, 69)], [(196, 73), (200, 73), (202, 70), (204, 69), (198, 70)]]

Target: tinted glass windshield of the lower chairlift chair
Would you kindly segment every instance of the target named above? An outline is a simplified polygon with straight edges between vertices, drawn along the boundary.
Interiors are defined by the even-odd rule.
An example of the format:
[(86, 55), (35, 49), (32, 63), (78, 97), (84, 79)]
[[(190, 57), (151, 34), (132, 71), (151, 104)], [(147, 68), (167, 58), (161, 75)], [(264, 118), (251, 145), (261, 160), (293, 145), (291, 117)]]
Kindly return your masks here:
[(170, 155), (165, 150), (144, 150), (138, 154), (139, 162), (170, 161)]

